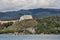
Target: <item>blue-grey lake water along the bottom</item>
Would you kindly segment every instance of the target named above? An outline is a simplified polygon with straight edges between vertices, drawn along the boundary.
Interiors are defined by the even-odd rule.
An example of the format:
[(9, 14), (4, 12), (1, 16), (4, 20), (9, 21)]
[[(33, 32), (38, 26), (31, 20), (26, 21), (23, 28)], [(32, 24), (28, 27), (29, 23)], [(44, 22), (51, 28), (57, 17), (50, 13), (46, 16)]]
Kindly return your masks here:
[(14, 35), (0, 34), (0, 40), (60, 40), (60, 35)]

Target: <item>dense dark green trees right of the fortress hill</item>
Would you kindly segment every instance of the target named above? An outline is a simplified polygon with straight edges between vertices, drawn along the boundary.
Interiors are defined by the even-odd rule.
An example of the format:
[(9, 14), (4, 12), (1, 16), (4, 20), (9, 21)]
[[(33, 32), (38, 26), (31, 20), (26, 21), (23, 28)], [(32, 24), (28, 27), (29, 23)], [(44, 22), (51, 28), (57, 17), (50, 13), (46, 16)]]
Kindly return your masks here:
[(36, 19), (38, 22), (36, 33), (60, 33), (58, 32), (58, 28), (60, 28), (60, 17), (58, 16), (52, 16), (52, 17), (46, 17), (46, 18), (38, 18)]

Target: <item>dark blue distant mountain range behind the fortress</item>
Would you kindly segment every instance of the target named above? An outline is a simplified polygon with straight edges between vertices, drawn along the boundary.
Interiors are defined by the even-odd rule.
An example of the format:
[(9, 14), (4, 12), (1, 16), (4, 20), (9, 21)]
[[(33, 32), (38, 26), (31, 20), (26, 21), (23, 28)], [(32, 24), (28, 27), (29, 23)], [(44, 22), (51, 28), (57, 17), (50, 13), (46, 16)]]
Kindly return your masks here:
[(60, 9), (29, 9), (29, 10), (19, 10), (10, 12), (0, 12), (0, 19), (13, 19), (19, 18), (22, 15), (30, 14), (33, 17), (45, 17), (45, 16), (60, 16)]

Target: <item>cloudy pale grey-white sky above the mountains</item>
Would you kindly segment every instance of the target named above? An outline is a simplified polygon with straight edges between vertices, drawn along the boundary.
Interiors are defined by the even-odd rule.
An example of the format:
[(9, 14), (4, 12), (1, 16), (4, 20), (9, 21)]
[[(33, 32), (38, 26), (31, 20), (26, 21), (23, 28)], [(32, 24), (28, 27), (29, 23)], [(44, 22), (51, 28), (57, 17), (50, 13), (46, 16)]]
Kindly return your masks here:
[(34, 8), (60, 9), (60, 0), (0, 0), (0, 12)]

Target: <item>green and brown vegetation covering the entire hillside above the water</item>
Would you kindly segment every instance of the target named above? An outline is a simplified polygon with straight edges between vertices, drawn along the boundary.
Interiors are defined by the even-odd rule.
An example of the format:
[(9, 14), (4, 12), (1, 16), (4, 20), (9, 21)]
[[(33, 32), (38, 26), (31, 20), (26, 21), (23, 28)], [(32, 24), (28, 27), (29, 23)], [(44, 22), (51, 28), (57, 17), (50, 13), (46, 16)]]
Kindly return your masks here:
[(27, 28), (34, 28), (34, 34), (60, 34), (60, 17), (51, 16), (34, 18), (32, 20), (17, 21), (16, 23), (0, 24), (0, 33), (24, 33), (31, 34)]

